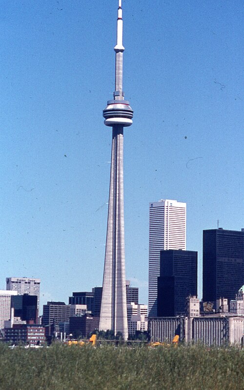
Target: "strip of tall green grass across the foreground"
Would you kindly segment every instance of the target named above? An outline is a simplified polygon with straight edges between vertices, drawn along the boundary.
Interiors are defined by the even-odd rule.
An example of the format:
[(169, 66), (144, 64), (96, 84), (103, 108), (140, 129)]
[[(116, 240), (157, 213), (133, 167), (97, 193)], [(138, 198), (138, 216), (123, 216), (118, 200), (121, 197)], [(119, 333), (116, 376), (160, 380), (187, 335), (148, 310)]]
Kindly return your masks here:
[(241, 390), (244, 350), (0, 345), (0, 390)]

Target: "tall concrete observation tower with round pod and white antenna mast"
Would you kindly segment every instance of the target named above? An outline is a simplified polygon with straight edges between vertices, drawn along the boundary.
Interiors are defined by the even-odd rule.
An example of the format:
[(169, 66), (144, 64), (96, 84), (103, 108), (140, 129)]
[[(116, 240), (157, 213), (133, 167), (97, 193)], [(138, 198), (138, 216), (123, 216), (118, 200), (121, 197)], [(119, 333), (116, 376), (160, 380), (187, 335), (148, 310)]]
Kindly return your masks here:
[(132, 124), (133, 110), (124, 100), (122, 88), (122, 0), (119, 0), (117, 44), (115, 50), (114, 99), (103, 110), (104, 124), (112, 127), (112, 154), (107, 219), (107, 237), (102, 282), (102, 304), (99, 330), (111, 329), (128, 338), (123, 214), (123, 128)]

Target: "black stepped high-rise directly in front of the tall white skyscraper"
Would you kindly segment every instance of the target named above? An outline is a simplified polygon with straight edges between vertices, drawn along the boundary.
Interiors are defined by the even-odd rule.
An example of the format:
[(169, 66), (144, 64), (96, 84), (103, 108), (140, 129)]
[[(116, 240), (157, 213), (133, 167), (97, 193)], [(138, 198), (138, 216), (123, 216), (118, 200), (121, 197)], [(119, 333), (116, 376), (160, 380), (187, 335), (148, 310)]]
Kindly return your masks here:
[(197, 295), (197, 259), (195, 251), (160, 251), (158, 317), (185, 313), (186, 298)]

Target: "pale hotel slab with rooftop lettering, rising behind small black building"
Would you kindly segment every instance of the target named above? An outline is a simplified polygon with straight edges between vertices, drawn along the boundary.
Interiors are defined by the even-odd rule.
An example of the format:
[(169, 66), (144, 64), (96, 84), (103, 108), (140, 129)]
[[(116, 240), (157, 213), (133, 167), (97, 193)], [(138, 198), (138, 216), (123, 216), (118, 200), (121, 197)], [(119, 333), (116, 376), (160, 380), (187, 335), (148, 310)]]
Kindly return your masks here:
[(17, 291), (18, 295), (36, 295), (39, 312), (40, 283), (41, 280), (37, 278), (6, 278), (6, 290)]

